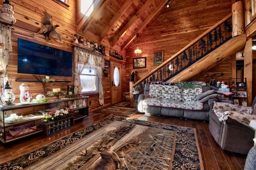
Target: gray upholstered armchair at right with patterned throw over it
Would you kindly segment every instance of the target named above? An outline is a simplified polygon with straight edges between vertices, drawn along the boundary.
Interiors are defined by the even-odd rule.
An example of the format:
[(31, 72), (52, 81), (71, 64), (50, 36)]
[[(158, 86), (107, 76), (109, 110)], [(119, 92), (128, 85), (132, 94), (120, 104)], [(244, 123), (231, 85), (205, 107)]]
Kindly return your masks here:
[(256, 97), (252, 107), (214, 103), (209, 130), (223, 150), (248, 154), (254, 145), (254, 130), (249, 127), (252, 119), (256, 119)]

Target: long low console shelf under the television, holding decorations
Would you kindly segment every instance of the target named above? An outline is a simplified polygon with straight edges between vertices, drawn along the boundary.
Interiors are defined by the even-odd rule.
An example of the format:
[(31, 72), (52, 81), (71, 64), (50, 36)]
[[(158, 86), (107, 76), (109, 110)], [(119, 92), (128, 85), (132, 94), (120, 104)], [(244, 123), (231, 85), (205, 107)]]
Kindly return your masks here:
[[(14, 140), (24, 138), (30, 136), (32, 134), (36, 134), (39, 132), (44, 131), (45, 136), (49, 136), (46, 134), (48, 128), (44, 125), (48, 125), (47, 123), (43, 123), (40, 121), (43, 118), (42, 112), (38, 110), (38, 107), (43, 107), (43, 113), (45, 113), (46, 108), (52, 108), (56, 105), (61, 105), (63, 107), (72, 108), (74, 113), (69, 118), (64, 118), (62, 121), (68, 121), (70, 119), (70, 127), (74, 126), (74, 121), (81, 119), (83, 117), (87, 117), (89, 114), (89, 107), (88, 107), (88, 96), (82, 97), (74, 97), (74, 98), (61, 98), (61, 99), (50, 99), (47, 102), (42, 103), (29, 103), (29, 104), (21, 104), (21, 103), (14, 103), (14, 105), (10, 106), (1, 106), (0, 107), (0, 142), (6, 146), (6, 143), (12, 142)], [(72, 107), (71, 107), (72, 105)], [(25, 109), (27, 111), (28, 108), (32, 108), (33, 113), (27, 113), (27, 115), (23, 116), (21, 119), (14, 119), (14, 122), (8, 122), (9, 117), (6, 117), (5, 113), (7, 111), (14, 111)], [(40, 114), (41, 113), (41, 114)], [(15, 116), (18, 116), (15, 114)], [(25, 118), (25, 119), (24, 119)], [(18, 121), (16, 121), (18, 120)], [(40, 123), (39, 123), (40, 122)], [(52, 122), (53, 123), (53, 122)], [(66, 130), (68, 128), (64, 128)], [(63, 130), (59, 130), (63, 131)], [(57, 133), (57, 132), (54, 132)], [(52, 135), (52, 134), (50, 134)]]

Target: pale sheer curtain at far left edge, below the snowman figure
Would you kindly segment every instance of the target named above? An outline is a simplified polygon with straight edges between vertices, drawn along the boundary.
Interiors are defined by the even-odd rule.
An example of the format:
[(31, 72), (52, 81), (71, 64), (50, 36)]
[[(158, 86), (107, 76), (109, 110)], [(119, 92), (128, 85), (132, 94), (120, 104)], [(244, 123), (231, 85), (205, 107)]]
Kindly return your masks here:
[[(7, 65), (9, 60), (9, 51), (12, 51), (11, 29), (11, 26), (0, 24), (0, 77), (8, 75)], [(8, 80), (8, 77), (4, 78), (4, 82), (3, 79), (0, 78), (1, 88), (6, 80)]]

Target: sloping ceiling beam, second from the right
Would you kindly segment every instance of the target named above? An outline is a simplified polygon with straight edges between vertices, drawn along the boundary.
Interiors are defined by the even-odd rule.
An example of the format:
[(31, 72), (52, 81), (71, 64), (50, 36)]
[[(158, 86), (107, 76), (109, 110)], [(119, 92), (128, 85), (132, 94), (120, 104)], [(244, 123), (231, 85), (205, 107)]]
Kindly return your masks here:
[(111, 46), (114, 47), (114, 45), (118, 42), (118, 40), (124, 36), (124, 34), (126, 33), (126, 30), (128, 30), (135, 22), (136, 20), (138, 20), (138, 18), (140, 18), (140, 16), (142, 16), (142, 14), (144, 13), (144, 11), (152, 4), (151, 0), (147, 0), (145, 2), (145, 4), (143, 4), (143, 6), (138, 10), (138, 12), (136, 12), (136, 14), (129, 20), (129, 22), (124, 26), (124, 28), (118, 33), (117, 36), (115, 36), (112, 39), (111, 42)]

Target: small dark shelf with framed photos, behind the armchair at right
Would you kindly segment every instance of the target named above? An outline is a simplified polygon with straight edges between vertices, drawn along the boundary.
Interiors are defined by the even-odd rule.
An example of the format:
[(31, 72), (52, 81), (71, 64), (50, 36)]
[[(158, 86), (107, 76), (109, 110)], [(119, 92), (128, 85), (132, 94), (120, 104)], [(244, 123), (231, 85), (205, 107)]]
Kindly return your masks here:
[(230, 78), (229, 88), (232, 95), (232, 104), (247, 106), (246, 78)]

